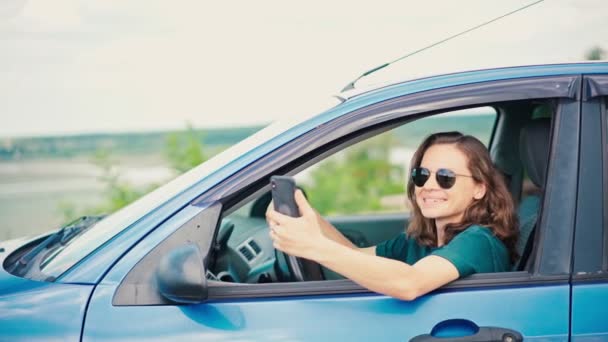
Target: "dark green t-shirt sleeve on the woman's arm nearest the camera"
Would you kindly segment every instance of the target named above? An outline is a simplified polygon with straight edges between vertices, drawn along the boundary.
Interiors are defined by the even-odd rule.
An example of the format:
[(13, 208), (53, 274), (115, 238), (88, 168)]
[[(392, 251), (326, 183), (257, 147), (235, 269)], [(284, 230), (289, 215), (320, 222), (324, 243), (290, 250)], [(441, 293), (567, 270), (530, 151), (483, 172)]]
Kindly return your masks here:
[(460, 278), (493, 269), (492, 243), (477, 228), (468, 228), (456, 235), (450, 243), (431, 253), (451, 262)]

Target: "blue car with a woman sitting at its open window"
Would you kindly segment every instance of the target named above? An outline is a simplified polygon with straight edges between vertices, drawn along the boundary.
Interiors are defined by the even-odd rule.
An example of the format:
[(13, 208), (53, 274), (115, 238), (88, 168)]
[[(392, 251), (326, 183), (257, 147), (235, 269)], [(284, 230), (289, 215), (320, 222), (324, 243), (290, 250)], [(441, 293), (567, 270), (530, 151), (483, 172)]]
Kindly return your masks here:
[[(112, 215), (0, 243), (0, 340), (608, 340), (608, 63), (462, 72), (337, 98)], [(295, 176), (313, 199), (320, 172), (349, 151), (447, 129), (487, 143), (518, 204), (522, 258), (510, 272), (402, 301), (273, 249), (272, 175)], [(401, 165), (381, 181), (404, 184), (412, 151), (399, 146), (377, 150)], [(358, 246), (407, 224), (398, 191), (332, 211), (339, 195), (324, 199), (326, 218)]]

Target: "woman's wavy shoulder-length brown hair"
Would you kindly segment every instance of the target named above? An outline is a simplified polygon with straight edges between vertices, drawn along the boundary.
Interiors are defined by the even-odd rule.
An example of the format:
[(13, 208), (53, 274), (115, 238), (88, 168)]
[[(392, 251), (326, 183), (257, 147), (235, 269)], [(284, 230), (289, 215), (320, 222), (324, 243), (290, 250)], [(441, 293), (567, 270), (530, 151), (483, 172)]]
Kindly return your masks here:
[[(513, 200), (502, 175), (492, 163), (488, 149), (481, 141), (460, 132), (431, 134), (414, 153), (410, 167), (420, 167), (422, 157), (428, 148), (443, 144), (454, 145), (464, 153), (467, 156), (467, 167), (473, 176), (473, 180), (486, 186), (485, 195), (479, 200), (473, 200), (465, 210), (461, 222), (446, 225), (445, 243), (450, 242), (458, 233), (469, 226), (487, 227), (505, 244), (509, 251), (511, 263), (515, 263), (519, 258), (515, 248), (519, 238), (519, 228)], [(407, 228), (408, 236), (415, 238), (421, 245), (436, 246), (435, 220), (422, 215), (422, 211), (416, 203), (414, 183), (411, 177), (407, 183), (407, 195), (413, 207)]]

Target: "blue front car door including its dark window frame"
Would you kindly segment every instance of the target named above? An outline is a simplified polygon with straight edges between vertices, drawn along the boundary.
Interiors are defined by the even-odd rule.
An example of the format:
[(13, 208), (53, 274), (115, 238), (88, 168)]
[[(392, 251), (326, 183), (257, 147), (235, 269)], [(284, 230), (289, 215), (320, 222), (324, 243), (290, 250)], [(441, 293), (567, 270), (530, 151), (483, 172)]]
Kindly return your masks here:
[[(487, 328), (494, 327), (526, 340), (567, 341), (579, 172), (578, 84), (576, 75), (470, 83), (372, 103), (320, 125), (202, 194), (130, 250), (97, 285), (83, 340), (433, 340), (476, 333), (487, 337), (496, 332)], [(157, 260), (185, 243), (199, 245), (209, 257), (214, 246), (208, 240), (223, 211), (262, 189), (268, 175), (314, 162), (396, 120), (402, 124), (433, 111), (534, 98), (557, 100), (529, 270), (473, 275), (411, 302), (370, 293), (349, 280), (210, 282), (207, 300), (191, 304), (171, 303), (158, 294)]]

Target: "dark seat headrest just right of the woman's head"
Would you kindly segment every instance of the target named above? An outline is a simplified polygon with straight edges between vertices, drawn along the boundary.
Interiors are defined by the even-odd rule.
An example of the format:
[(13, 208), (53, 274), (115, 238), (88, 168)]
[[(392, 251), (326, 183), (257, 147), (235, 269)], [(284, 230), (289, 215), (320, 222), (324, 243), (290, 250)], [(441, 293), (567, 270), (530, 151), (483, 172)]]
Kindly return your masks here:
[(549, 161), (551, 119), (542, 118), (527, 123), (519, 134), (519, 154), (532, 183), (539, 188), (545, 185)]

